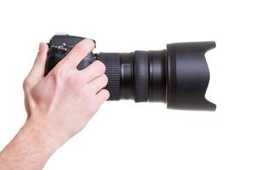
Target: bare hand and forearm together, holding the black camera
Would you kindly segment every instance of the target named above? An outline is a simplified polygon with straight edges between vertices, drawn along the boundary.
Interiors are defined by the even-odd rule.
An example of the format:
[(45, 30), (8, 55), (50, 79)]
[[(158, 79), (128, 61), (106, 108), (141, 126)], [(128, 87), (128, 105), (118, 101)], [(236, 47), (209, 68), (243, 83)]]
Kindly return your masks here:
[(49, 157), (79, 133), (109, 98), (105, 65), (94, 61), (82, 71), (78, 63), (94, 49), (84, 39), (43, 76), (48, 46), (40, 43), (37, 59), (23, 88), (27, 120), (20, 132), (0, 152), (0, 169), (43, 169)]

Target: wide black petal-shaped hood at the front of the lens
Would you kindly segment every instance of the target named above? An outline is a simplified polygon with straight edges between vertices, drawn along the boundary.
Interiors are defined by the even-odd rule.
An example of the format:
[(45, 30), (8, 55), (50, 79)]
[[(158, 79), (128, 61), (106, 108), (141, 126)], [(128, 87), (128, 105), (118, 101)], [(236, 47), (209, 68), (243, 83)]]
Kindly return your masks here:
[(181, 42), (167, 45), (168, 108), (214, 111), (205, 99), (210, 73), (205, 53), (215, 42)]

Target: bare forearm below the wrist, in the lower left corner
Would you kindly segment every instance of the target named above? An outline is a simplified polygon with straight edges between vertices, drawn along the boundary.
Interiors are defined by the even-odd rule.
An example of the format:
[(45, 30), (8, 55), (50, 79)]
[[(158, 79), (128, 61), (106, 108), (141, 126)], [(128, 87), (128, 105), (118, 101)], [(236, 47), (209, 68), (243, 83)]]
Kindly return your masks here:
[(48, 158), (61, 144), (61, 139), (56, 138), (53, 131), (50, 133), (50, 127), (28, 120), (0, 152), (0, 169), (43, 169)]

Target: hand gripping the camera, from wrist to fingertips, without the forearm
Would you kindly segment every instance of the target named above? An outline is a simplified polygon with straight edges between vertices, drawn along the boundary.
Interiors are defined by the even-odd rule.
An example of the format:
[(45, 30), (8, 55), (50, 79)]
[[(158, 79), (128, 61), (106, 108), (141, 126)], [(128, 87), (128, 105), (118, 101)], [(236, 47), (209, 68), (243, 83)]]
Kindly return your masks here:
[[(24, 81), (28, 119), (48, 127), (61, 142), (80, 132), (100, 105), (109, 98), (105, 65), (94, 61), (82, 71), (80, 61), (94, 49), (88, 38), (79, 42), (43, 77), (48, 46), (41, 43), (35, 64)], [(54, 132), (53, 132), (54, 129)]]

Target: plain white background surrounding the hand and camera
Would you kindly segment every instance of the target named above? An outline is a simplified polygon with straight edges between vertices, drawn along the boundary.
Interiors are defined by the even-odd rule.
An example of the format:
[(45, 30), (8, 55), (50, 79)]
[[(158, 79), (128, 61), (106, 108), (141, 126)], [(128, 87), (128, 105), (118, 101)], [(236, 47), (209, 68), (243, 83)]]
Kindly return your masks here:
[(249, 0), (1, 1), (0, 148), (26, 121), (22, 82), (56, 31), (94, 38), (95, 52), (214, 40), (207, 98), (217, 111), (106, 102), (45, 169), (256, 169), (255, 16)]

